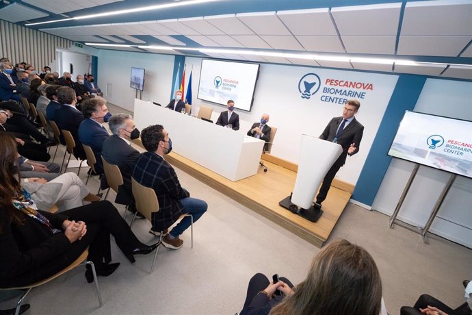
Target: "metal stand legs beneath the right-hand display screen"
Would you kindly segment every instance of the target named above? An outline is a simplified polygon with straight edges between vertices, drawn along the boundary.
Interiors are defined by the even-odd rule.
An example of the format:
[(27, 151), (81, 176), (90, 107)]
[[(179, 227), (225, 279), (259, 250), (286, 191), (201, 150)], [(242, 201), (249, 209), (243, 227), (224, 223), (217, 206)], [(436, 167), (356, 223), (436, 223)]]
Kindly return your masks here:
[(402, 192), (402, 196), (400, 196), (400, 199), (397, 203), (397, 207), (395, 207), (395, 211), (390, 217), (390, 228), (393, 229), (393, 225), (399, 225), (401, 227), (404, 227), (405, 229), (409, 229), (410, 231), (414, 231), (417, 234), (421, 234), (421, 238), (423, 238), (423, 242), (425, 244), (428, 244), (428, 239), (426, 238), (426, 234), (428, 234), (428, 231), (433, 223), (434, 218), (436, 218), (436, 214), (438, 214), (439, 208), (443, 204), (443, 201), (445, 197), (447, 196), (447, 192), (449, 192), (449, 189), (451, 188), (452, 184), (454, 183), (454, 180), (456, 179), (457, 175), (456, 174), (451, 174), (451, 177), (449, 177), (449, 180), (447, 181), (447, 184), (444, 186), (443, 191), (441, 191), (441, 194), (439, 194), (438, 199), (436, 200), (436, 203), (434, 204), (434, 207), (430, 213), (430, 217), (426, 221), (426, 224), (424, 227), (414, 227), (412, 225), (409, 225), (408, 223), (401, 222), (397, 220), (397, 215), (400, 210), (400, 208), (403, 205), (403, 202), (406, 198), (406, 194), (408, 194), (408, 190), (410, 190), (410, 186), (412, 184), (413, 179), (415, 179), (415, 176), (418, 173), (419, 169), (419, 164), (415, 164), (415, 168), (413, 168), (413, 171), (410, 175), (410, 178), (408, 179), (406, 186)]

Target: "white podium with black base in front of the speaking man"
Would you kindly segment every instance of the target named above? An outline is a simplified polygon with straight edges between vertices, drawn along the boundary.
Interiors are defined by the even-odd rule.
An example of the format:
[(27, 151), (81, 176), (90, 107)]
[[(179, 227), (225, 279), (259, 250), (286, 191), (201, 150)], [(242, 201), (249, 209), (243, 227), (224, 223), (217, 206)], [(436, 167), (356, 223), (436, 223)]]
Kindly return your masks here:
[(341, 145), (335, 142), (302, 135), (295, 187), (291, 195), (279, 204), (293, 213), (316, 222), (323, 211), (313, 207), (313, 199), (319, 184), (342, 152)]

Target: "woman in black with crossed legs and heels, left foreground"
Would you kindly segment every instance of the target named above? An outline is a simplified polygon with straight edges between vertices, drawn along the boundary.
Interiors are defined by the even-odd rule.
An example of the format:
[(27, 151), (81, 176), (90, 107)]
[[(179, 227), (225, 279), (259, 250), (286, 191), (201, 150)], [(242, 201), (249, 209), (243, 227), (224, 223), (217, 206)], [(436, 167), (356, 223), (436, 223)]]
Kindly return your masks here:
[[(109, 201), (84, 205), (62, 214), (38, 210), (20, 185), (15, 166), (16, 147), (10, 136), (0, 136), (0, 288), (25, 286), (66, 268), (88, 249), (88, 260), (97, 275), (114, 273), (109, 235), (130, 262), (134, 255), (148, 254), (158, 244), (147, 246)], [(91, 270), (86, 271), (93, 281)]]

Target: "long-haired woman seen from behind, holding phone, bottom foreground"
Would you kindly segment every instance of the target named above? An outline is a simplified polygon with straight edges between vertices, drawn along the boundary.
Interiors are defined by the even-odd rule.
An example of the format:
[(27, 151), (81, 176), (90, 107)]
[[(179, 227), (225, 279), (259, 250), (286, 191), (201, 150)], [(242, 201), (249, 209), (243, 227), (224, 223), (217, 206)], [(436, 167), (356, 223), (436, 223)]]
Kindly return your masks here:
[(272, 283), (261, 273), (254, 275), (240, 314), (378, 315), (381, 300), (382, 283), (371, 255), (338, 240), (314, 257), (306, 279), (295, 288), (285, 278)]

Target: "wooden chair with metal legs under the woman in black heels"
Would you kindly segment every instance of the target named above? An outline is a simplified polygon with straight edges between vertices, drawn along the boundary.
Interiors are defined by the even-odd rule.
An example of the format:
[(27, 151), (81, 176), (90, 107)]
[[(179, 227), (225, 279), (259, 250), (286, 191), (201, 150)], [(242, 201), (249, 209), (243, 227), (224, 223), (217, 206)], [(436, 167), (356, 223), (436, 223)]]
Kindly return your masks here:
[(96, 279), (96, 272), (95, 272), (95, 266), (93, 262), (88, 262), (87, 261), (87, 256), (88, 256), (88, 249), (83, 251), (83, 253), (69, 266), (61, 270), (60, 272), (56, 273), (55, 275), (52, 275), (51, 277), (44, 279), (42, 281), (36, 282), (36, 283), (31, 283), (27, 286), (20, 286), (20, 287), (15, 287), (15, 288), (0, 288), (0, 290), (24, 290), (23, 294), (21, 294), (21, 297), (18, 299), (18, 302), (16, 303), (16, 311), (15, 315), (18, 315), (20, 313), (20, 307), (21, 303), (23, 303), (23, 300), (31, 291), (32, 288), (36, 288), (38, 286), (42, 286), (45, 283), (48, 283), (52, 281), (53, 279), (60, 277), (61, 275), (64, 275), (64, 273), (67, 273), (69, 270), (73, 270), (73, 268), (80, 266), (80, 265), (90, 265), (90, 268), (92, 268), (92, 274), (94, 275), (94, 283), (95, 283), (95, 290), (96, 290), (96, 295), (99, 297), (99, 304), (102, 306), (102, 297), (100, 293), (100, 288), (99, 288), (99, 281)]

